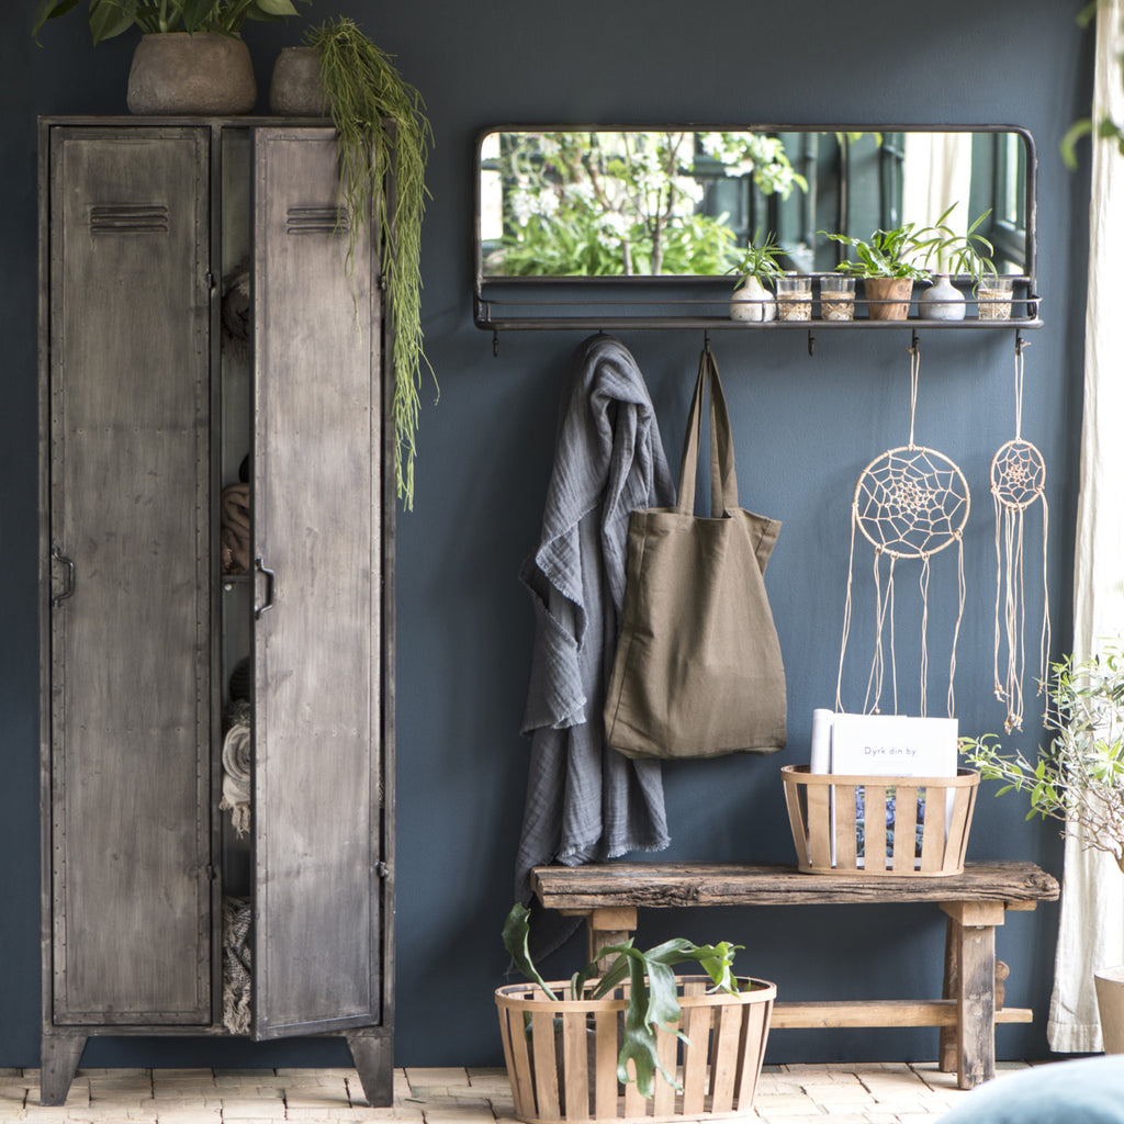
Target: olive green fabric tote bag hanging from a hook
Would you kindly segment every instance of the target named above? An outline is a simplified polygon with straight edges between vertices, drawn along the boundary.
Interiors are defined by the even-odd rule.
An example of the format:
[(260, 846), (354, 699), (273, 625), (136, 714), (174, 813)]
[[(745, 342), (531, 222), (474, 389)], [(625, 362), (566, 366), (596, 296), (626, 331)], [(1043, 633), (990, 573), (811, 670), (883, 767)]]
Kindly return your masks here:
[[(710, 399), (710, 517), (695, 479)], [(726, 400), (709, 344), (673, 508), (628, 524), (625, 601), (605, 704), (606, 741), (629, 758), (711, 758), (785, 746), (785, 668), (765, 596), (780, 523), (737, 506)]]

